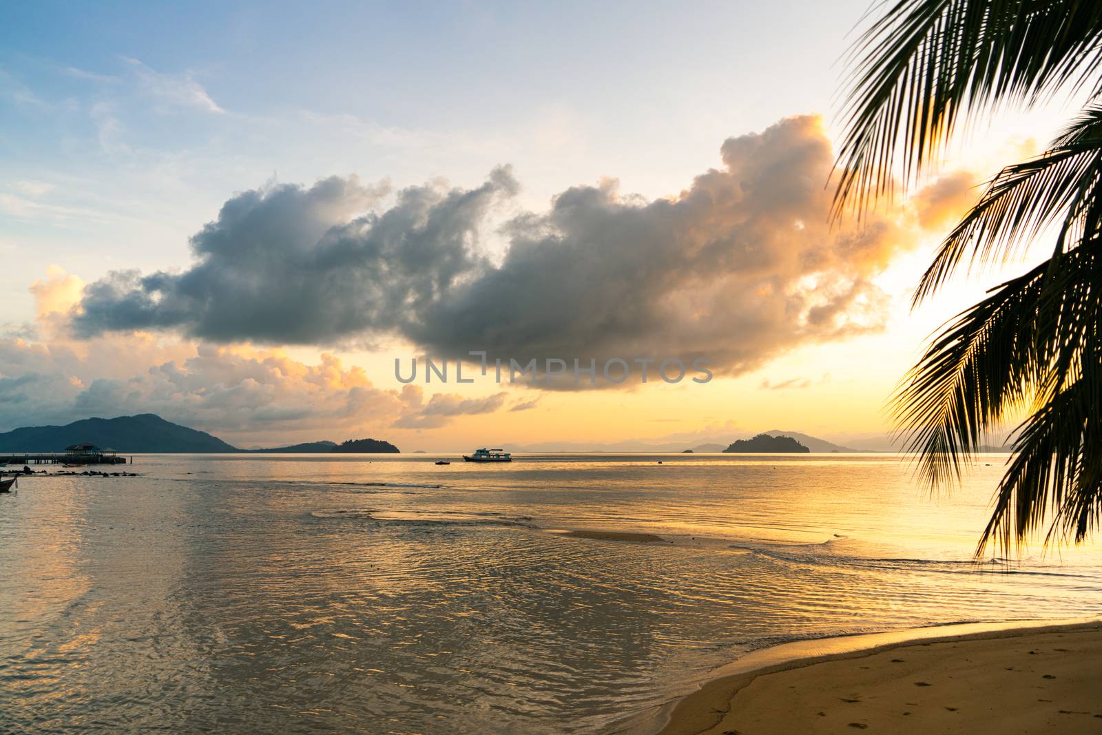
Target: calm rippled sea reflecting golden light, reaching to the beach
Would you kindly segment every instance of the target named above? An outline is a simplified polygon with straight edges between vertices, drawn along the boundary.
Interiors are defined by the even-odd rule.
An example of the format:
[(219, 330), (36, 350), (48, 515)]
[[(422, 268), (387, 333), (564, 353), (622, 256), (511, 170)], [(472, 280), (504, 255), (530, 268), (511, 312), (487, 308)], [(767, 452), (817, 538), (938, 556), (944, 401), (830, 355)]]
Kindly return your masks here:
[(972, 562), (1002, 456), (941, 498), (889, 455), (435, 458), (22, 480), (0, 731), (599, 732), (782, 640), (1102, 614), (1099, 547)]

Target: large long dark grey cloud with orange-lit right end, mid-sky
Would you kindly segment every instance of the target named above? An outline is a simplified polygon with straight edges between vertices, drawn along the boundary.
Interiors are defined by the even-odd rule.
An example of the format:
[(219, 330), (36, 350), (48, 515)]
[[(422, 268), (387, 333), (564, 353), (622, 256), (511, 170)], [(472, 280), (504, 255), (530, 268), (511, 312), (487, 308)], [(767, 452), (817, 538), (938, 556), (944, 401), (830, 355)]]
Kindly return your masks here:
[[(914, 210), (832, 227), (817, 117), (731, 138), (721, 155), (669, 198), (620, 196), (613, 181), (566, 190), (500, 229), (499, 261), (483, 241), (518, 191), (507, 167), (469, 190), (402, 190), (366, 215), (380, 192), (354, 179), (245, 192), (192, 238), (188, 270), (112, 272), (74, 325), (272, 344), (397, 336), (523, 361), (703, 357), (719, 375), (880, 328), (887, 296), (872, 279), (922, 236)], [(928, 194), (922, 216), (946, 201)]]

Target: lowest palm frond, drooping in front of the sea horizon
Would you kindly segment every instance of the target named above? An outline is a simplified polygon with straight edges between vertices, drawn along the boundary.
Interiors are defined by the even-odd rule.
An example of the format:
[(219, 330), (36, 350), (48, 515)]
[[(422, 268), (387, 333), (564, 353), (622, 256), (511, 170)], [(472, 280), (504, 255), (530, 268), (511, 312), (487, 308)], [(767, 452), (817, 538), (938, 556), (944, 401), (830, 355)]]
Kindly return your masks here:
[(977, 553), (1085, 538), (1102, 511), (1102, 241), (1094, 236), (1004, 283), (954, 320), (895, 398), (931, 486), (959, 479), (981, 437), (1028, 409)]

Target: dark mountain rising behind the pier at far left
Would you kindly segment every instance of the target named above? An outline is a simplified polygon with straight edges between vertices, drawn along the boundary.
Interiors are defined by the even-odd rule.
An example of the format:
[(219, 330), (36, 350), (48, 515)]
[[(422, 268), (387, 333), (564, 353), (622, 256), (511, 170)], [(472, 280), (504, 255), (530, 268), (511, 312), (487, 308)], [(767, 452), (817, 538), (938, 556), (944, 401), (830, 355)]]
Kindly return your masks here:
[(71, 444), (90, 442), (120, 454), (223, 453), (238, 450), (212, 436), (153, 413), (117, 419), (84, 419), (64, 426), (23, 426), (0, 434), (0, 452), (64, 452)]

